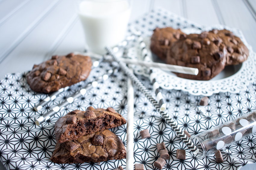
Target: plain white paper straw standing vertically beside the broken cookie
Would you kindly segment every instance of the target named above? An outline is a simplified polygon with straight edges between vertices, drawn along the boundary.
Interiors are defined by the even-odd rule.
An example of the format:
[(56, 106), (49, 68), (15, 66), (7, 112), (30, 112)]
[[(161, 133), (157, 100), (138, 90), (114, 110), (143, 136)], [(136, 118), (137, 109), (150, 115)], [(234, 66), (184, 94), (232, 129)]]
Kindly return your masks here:
[(126, 145), (126, 170), (133, 170), (133, 114), (134, 114), (134, 91), (131, 79), (128, 79), (127, 91), (127, 145)]

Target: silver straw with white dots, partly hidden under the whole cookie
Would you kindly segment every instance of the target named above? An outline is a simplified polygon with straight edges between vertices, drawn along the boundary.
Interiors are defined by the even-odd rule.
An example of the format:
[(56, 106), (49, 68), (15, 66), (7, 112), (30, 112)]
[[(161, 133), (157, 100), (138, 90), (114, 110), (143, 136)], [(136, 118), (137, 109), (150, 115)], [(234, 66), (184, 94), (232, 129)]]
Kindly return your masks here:
[[(102, 61), (102, 59), (99, 60), (99, 61), (93, 61), (93, 62), (92, 62), (92, 66), (93, 66), (93, 67), (98, 67), (101, 61)], [(53, 92), (53, 93), (50, 94), (48, 97), (46, 97), (45, 99), (43, 99), (39, 104), (37, 104), (37, 105), (34, 107), (34, 109), (35, 109), (37, 112), (39, 112), (39, 111), (43, 108), (43, 106), (45, 106), (45, 105), (46, 105), (47, 103), (49, 103), (50, 101), (55, 100), (56, 97), (57, 97), (59, 94), (61, 94), (63, 91), (66, 91), (68, 88), (69, 88), (69, 86), (64, 87), (64, 88), (61, 88), (61, 89), (59, 89), (58, 91)]]

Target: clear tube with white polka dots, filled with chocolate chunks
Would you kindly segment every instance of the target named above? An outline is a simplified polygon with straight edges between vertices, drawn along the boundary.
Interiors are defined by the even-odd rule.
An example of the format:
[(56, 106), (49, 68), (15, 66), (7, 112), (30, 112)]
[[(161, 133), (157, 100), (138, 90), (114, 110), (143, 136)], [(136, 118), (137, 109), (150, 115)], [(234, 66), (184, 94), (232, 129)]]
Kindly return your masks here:
[(191, 136), (199, 149), (196, 157), (204, 158), (256, 133), (256, 113), (249, 112), (219, 126)]

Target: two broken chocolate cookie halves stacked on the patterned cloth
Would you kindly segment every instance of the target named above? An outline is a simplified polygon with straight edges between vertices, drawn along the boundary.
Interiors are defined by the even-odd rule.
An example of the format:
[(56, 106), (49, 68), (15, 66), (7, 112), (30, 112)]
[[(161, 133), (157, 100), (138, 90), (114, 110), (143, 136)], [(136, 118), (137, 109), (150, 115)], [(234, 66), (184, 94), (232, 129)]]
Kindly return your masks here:
[(55, 123), (54, 163), (102, 162), (126, 158), (121, 139), (109, 128), (126, 124), (113, 108), (74, 110)]

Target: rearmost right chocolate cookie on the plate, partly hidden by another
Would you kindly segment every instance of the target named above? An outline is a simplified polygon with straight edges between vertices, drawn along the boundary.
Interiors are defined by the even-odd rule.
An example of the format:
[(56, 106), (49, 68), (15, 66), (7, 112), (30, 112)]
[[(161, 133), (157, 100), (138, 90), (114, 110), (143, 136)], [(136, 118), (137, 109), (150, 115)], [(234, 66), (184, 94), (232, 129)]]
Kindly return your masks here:
[(237, 65), (244, 62), (249, 56), (249, 50), (239, 37), (236, 37), (231, 31), (212, 30), (212, 33), (216, 33), (222, 43), (227, 49), (227, 61), (226, 65)]

